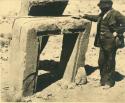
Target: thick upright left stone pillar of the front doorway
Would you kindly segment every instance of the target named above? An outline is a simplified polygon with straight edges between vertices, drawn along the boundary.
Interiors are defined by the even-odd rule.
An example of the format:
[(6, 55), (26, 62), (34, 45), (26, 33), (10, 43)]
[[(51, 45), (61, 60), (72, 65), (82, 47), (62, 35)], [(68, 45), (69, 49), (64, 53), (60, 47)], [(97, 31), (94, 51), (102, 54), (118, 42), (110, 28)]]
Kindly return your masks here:
[(33, 95), (37, 79), (37, 35), (34, 29), (25, 33), (20, 34), (17, 29), (13, 31), (9, 58), (12, 101), (19, 100), (22, 95)]

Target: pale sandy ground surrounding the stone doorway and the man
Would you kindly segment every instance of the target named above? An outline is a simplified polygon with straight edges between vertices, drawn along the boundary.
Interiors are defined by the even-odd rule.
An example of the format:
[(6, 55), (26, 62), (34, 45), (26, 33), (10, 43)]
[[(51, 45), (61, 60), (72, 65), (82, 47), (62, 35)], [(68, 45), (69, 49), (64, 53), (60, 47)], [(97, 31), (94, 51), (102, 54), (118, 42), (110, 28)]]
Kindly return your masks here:
[[(3, 2), (3, 0), (1, 0)], [(1, 3), (0, 1), (0, 3)], [(17, 1), (17, 0), (16, 0)], [(98, 7), (96, 7), (98, 0), (70, 0), (69, 5), (66, 8), (64, 14), (79, 15), (84, 13), (98, 13)], [(4, 4), (4, 3), (3, 3)], [(2, 4), (2, 5), (3, 5)], [(1, 4), (0, 4), (1, 6)], [(12, 6), (12, 5), (11, 5)], [(115, 0), (114, 8), (125, 14), (125, 1)], [(4, 7), (4, 6), (3, 6)], [(10, 7), (11, 8), (11, 7)], [(12, 12), (12, 11), (13, 12)], [(5, 15), (16, 14), (15, 8), (7, 9), (7, 13), (4, 16), (0, 16), (0, 75), (2, 84), (0, 93), (3, 94), (9, 88), (8, 85), (8, 58), (9, 58), (9, 43), (11, 42), (11, 26), (13, 19), (5, 17)], [(0, 9), (1, 12), (1, 9)], [(25, 102), (125, 102), (125, 48), (119, 49), (116, 56), (116, 85), (110, 89), (104, 89), (98, 86), (99, 84), (99, 68), (98, 68), (98, 53), (99, 49), (93, 46), (94, 34), (96, 32), (96, 23), (93, 23), (90, 34), (90, 40), (88, 50), (86, 53), (85, 68), (87, 72), (88, 83), (82, 86), (62, 87), (63, 82), (51, 84), (46, 89), (39, 91), (33, 96), (23, 98)], [(50, 67), (54, 66), (56, 62), (59, 62), (62, 36), (53, 36), (49, 38), (49, 42), (41, 54), (40, 60), (49, 61)], [(54, 52), (53, 52), (54, 51)], [(56, 62), (53, 62), (56, 61)], [(48, 62), (47, 62), (48, 63)], [(46, 71), (40, 70), (39, 75), (46, 73)], [(41, 82), (40, 82), (41, 83)], [(42, 85), (42, 83), (41, 83)], [(41, 86), (40, 85), (40, 86)], [(7, 97), (2, 97), (7, 98)], [(9, 99), (9, 97), (8, 97)]]

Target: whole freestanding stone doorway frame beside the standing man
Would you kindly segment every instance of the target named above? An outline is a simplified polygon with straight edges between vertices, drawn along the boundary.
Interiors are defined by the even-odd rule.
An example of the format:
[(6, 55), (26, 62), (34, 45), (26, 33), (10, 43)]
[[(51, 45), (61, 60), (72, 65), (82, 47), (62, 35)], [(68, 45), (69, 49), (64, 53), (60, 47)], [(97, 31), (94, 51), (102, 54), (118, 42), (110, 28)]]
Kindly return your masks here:
[[(42, 32), (42, 34), (47, 33), (46, 36), (53, 34), (65, 35), (65, 39), (63, 39), (65, 42), (63, 44), (65, 45), (62, 46), (62, 59), (60, 61), (62, 66), (60, 67), (62, 67), (61, 71), (65, 71), (65, 73), (62, 72), (64, 73), (64, 75), (62, 75), (63, 79), (68, 82), (73, 82), (74, 78), (72, 78), (72, 76), (77, 70), (75, 68), (84, 66), (90, 27), (90, 22), (75, 20), (71, 17), (22, 17), (17, 19), (13, 26), (13, 39), (11, 41), (10, 53), (10, 67), (13, 68), (10, 73), (16, 74), (17, 77), (14, 75), (11, 77), (11, 92), (18, 94), (19, 97), (22, 95), (29, 96), (34, 93), (34, 86), (36, 86), (37, 80), (35, 77), (39, 44), (37, 35), (39, 31)], [(67, 38), (78, 34), (78, 38), (74, 39), (76, 42), (74, 42), (72, 51), (71, 47), (69, 48), (67, 44), (70, 45), (73, 41)], [(67, 51), (70, 53), (67, 53)], [(17, 61), (15, 62), (15, 60)]]

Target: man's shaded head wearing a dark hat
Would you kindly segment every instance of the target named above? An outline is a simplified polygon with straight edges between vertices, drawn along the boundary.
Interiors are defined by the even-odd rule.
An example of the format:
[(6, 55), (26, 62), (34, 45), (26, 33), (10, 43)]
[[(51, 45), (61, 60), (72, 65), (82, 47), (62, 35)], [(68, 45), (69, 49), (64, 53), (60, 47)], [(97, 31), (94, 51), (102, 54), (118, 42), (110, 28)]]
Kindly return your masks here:
[(100, 0), (100, 2), (98, 3), (98, 6), (102, 12), (110, 10), (112, 8), (112, 5), (112, 0)]

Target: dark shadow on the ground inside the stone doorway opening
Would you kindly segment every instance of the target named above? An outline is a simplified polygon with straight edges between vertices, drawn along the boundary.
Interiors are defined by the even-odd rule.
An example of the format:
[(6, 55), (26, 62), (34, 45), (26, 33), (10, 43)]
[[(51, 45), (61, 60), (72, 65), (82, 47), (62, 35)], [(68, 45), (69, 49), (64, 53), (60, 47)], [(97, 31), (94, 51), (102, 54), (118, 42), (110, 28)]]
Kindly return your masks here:
[(59, 73), (59, 62), (54, 60), (44, 60), (40, 61), (39, 70), (44, 70), (47, 73), (38, 76), (36, 92), (39, 92), (52, 83), (60, 79)]

